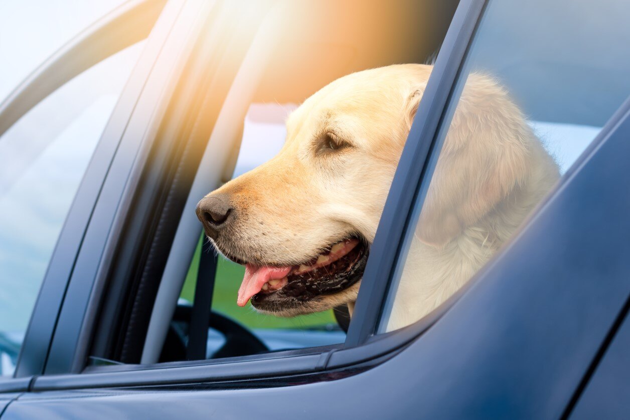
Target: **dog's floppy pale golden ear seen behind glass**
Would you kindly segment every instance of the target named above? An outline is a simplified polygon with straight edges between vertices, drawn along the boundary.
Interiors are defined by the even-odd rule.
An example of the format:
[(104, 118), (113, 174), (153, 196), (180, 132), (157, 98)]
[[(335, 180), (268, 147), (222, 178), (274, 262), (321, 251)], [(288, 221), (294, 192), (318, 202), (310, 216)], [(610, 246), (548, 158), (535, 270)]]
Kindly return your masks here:
[(500, 85), (469, 75), (420, 213), (418, 238), (443, 247), (521, 185), (532, 136)]

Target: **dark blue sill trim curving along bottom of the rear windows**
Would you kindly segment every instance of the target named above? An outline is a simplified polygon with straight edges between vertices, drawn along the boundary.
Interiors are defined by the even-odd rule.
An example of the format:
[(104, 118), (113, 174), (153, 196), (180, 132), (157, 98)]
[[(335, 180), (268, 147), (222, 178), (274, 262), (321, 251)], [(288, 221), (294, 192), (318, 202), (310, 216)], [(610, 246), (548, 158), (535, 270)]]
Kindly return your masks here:
[[(621, 129), (621, 130), (620, 130)], [(600, 135), (589, 146), (585, 155), (576, 162), (570, 170), (570, 175), (566, 182), (560, 183), (554, 189), (546, 204), (554, 204), (554, 197), (561, 193), (567, 184), (571, 183), (573, 175), (580, 172), (583, 167), (588, 167), (588, 161), (597, 156), (597, 149), (605, 142), (614, 137), (624, 134), (630, 129), (630, 100), (622, 105), (616, 114), (612, 116), (605, 125)], [(619, 130), (619, 131), (618, 131)], [(570, 185), (573, 186), (573, 185)], [(546, 206), (544, 206), (546, 207)], [(522, 231), (528, 233), (527, 230)], [(519, 235), (519, 236), (522, 236)], [(518, 244), (513, 242), (513, 244)], [(509, 248), (508, 248), (509, 250)], [(507, 253), (510, 254), (510, 253)], [(513, 254), (513, 253), (512, 253)], [(484, 272), (492, 273), (493, 265), (500, 264), (500, 260), (491, 267), (484, 269)], [(501, 270), (495, 270), (501, 272)], [(482, 273), (483, 274), (483, 273)], [(471, 290), (472, 291), (472, 290)], [(463, 294), (463, 293), (462, 293)], [(474, 295), (472, 293), (471, 295)], [(463, 298), (466, 296), (462, 296)], [(474, 298), (474, 296), (467, 296)], [(456, 298), (452, 298), (456, 299)], [(474, 299), (473, 299), (474, 300)], [(471, 299), (468, 299), (471, 301)], [(449, 305), (444, 305), (448, 307)], [(215, 359), (210, 361), (193, 362), (172, 362), (158, 363), (156, 365), (121, 365), (121, 366), (93, 366), (86, 369), (81, 375), (44, 375), (35, 378), (32, 390), (47, 391), (61, 389), (79, 389), (96, 387), (124, 387), (124, 386), (152, 386), (152, 385), (174, 385), (178, 383), (216, 383), (216, 387), (227, 387), (227, 383), (235, 383), (242, 387), (246, 383), (258, 383), (265, 378), (289, 378), (290, 383), (295, 383), (295, 379), (301, 376), (312, 374), (312, 380), (320, 378), (329, 380), (328, 372), (333, 375), (352, 375), (360, 371), (381, 364), (389, 358), (404, 351), (408, 344), (414, 341), (428, 327), (433, 325), (445, 311), (445, 307), (428, 317), (422, 318), (418, 323), (404, 327), (391, 333), (370, 337), (366, 344), (350, 349), (316, 349), (323, 353), (309, 354), (303, 349), (300, 354), (295, 351), (280, 353), (268, 353), (263, 355), (244, 356), (239, 358)], [(458, 305), (454, 305), (459, 308)], [(462, 306), (462, 305), (459, 305)], [(459, 308), (461, 309), (461, 308)], [(627, 309), (627, 308), (626, 308)], [(611, 308), (614, 311), (614, 308)], [(451, 317), (452, 318), (452, 317)], [(452, 322), (452, 320), (450, 320)], [(435, 341), (435, 340), (433, 340)], [(598, 341), (599, 343), (599, 341)], [(417, 347), (420, 342), (410, 344)], [(604, 342), (603, 345), (607, 344)], [(603, 351), (602, 351), (603, 352)], [(289, 361), (290, 363), (287, 363)], [(591, 372), (592, 373), (592, 372)], [(339, 376), (335, 376), (339, 377)], [(278, 385), (282, 381), (272, 381), (272, 385)]]

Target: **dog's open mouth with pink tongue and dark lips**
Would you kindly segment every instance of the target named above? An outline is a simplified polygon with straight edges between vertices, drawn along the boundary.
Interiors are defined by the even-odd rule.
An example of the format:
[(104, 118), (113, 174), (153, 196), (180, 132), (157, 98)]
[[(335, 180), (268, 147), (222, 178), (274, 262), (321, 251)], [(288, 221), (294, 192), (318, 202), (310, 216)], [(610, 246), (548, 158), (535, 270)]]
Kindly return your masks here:
[(363, 276), (367, 246), (357, 238), (330, 245), (299, 265), (287, 267), (245, 264), (237, 304), (251, 300), (255, 308), (272, 310), (283, 303), (299, 303), (349, 288)]

